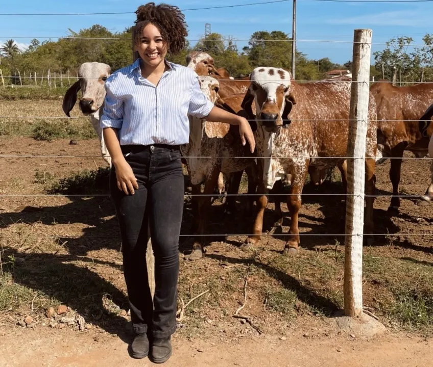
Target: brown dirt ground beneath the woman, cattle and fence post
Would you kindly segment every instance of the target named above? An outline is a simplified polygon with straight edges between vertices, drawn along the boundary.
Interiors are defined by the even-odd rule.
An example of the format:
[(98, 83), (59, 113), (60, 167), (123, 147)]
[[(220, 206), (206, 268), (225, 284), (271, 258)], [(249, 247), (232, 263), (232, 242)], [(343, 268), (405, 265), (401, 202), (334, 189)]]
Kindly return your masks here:
[[(92, 182), (94, 176), (82, 174), (106, 167), (98, 141), (69, 141), (0, 136), (0, 155), (80, 155), (0, 158), (0, 365), (149, 365), (126, 352), (128, 304), (110, 198), (27, 196), (50, 188), (65, 192), (71, 186), (79, 194), (107, 193), (107, 187)], [(403, 161), (402, 195), (425, 192), (428, 167), (428, 160)], [(378, 195), (391, 194), (388, 170), (389, 162), (377, 167)], [(65, 177), (68, 180), (61, 181)], [(263, 236), (253, 251), (239, 249), (252, 227), (240, 197), (233, 216), (216, 200), (207, 229), (232, 235), (210, 237), (202, 260), (185, 260), (191, 224), (186, 201), (179, 295), (186, 303), (207, 293), (185, 309), (167, 365), (431, 365), (433, 207), (403, 197), (400, 213), (391, 215), (390, 198), (376, 199), (375, 231), (383, 236), (364, 248), (364, 305), (387, 332), (362, 340), (332, 323), (332, 313), (343, 306), (344, 238), (334, 234), (344, 232), (344, 206), (326, 193), (341, 193), (340, 183), (304, 189), (314, 196), (303, 196), (299, 227), (309, 235), (301, 237), (296, 258), (281, 255), (280, 234), (289, 224), (285, 204), (282, 233)], [(273, 224), (272, 213), (271, 202), (264, 230)], [(251, 317), (251, 324), (232, 317), (244, 302), (245, 279), (248, 296), (242, 313)], [(59, 305), (84, 318), (86, 329), (75, 321), (66, 325), (57, 316), (45, 316), (47, 308)], [(29, 316), (32, 321), (27, 323)]]

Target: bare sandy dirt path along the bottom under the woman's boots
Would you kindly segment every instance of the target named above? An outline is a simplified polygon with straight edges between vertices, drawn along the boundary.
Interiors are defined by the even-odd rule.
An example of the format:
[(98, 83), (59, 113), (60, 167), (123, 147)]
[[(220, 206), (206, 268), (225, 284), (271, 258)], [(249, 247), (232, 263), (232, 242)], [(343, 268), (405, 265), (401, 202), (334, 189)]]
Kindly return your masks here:
[[(70, 335), (69, 335), (70, 334)], [(58, 330), (0, 329), (0, 365), (11, 366), (150, 366), (146, 358), (134, 360), (127, 344), (109, 334)], [(167, 367), (282, 366), (282, 367), (427, 367), (433, 360), (431, 341), (405, 336), (382, 336), (360, 341), (343, 335), (309, 339), (301, 335), (262, 336), (238, 343), (221, 339), (192, 341), (174, 338), (174, 354)]]

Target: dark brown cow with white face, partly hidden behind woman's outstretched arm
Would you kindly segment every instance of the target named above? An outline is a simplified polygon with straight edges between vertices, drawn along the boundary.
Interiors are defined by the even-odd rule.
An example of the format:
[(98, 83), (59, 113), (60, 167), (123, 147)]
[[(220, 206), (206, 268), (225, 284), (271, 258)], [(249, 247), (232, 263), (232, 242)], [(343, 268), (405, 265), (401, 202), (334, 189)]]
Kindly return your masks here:
[[(230, 97), (223, 101), (219, 96), (219, 82), (206, 75), (200, 81), (200, 88), (214, 104), (226, 104), (234, 110), (240, 110), (242, 96)], [(239, 106), (236, 109), (236, 104)], [(236, 126), (235, 126), (236, 127)], [(200, 186), (204, 183), (203, 195), (193, 196), (194, 222), (197, 237), (194, 241), (190, 260), (203, 256), (203, 236), (211, 206), (211, 194), (215, 188), (220, 172), (233, 173), (243, 171), (252, 164), (253, 155), (248, 146), (243, 146), (240, 137), (230, 130), (230, 125), (221, 122), (207, 122), (189, 116), (189, 143), (182, 146), (182, 154), (186, 158), (189, 179), (193, 187), (193, 195), (201, 194)], [(240, 158), (240, 157), (246, 157)], [(204, 158), (200, 158), (204, 157)], [(233, 158), (236, 157), (236, 158)], [(248, 158), (249, 157), (249, 158)]]

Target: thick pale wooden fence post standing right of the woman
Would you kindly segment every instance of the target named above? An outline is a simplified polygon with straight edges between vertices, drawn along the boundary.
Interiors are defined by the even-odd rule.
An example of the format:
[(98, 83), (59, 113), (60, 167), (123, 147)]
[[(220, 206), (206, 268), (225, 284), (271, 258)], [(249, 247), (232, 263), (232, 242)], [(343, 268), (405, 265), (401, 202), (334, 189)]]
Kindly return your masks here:
[(357, 318), (363, 315), (364, 187), (371, 37), (369, 29), (354, 32), (349, 112), (348, 156), (353, 159), (347, 160), (344, 312), (346, 316)]

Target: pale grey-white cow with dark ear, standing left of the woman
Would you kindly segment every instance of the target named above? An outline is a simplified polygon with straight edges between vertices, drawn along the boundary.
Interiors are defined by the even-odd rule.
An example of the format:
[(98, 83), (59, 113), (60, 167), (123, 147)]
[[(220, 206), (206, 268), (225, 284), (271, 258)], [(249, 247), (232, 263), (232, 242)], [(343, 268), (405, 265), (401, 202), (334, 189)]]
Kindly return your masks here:
[(105, 146), (102, 128), (100, 126), (100, 118), (104, 109), (105, 100), (105, 81), (111, 73), (109, 65), (100, 62), (86, 62), (81, 64), (78, 70), (79, 80), (74, 83), (63, 97), (63, 112), (70, 117), (70, 111), (77, 102), (77, 93), (81, 89), (82, 97), (79, 102), (80, 110), (85, 116), (91, 117), (91, 124), (98, 134), (101, 154), (111, 167), (111, 157)]

